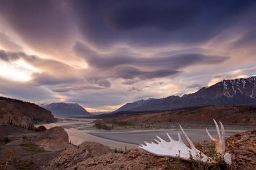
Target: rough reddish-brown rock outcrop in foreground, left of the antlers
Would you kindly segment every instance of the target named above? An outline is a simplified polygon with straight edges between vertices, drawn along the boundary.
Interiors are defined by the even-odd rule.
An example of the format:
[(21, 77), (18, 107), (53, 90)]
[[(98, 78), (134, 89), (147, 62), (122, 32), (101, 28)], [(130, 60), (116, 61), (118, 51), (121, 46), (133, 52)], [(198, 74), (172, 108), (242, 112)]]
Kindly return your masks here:
[(70, 168), (88, 158), (98, 157), (108, 153), (114, 153), (114, 151), (101, 143), (85, 141), (79, 144), (77, 148), (70, 148), (63, 151), (48, 164), (46, 169), (58, 170)]

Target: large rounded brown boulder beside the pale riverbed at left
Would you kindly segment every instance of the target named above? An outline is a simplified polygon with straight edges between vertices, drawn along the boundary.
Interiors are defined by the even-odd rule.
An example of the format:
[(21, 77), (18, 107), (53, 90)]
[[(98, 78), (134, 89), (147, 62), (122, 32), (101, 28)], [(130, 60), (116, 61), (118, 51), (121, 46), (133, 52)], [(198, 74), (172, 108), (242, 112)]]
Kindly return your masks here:
[(72, 147), (68, 133), (61, 127), (53, 127), (41, 133), (37, 136), (36, 143), (46, 151), (61, 151)]

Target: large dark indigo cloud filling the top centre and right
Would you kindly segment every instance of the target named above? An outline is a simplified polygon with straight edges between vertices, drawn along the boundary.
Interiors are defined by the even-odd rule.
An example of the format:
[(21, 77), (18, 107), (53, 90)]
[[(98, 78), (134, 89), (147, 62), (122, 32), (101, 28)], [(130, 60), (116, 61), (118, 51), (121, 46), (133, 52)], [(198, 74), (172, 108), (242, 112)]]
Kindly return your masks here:
[[(104, 47), (119, 41), (133, 45), (204, 42), (246, 18), (245, 14), (253, 8), (255, 1), (107, 0), (72, 3), (84, 37)], [(239, 27), (246, 28), (247, 25)]]

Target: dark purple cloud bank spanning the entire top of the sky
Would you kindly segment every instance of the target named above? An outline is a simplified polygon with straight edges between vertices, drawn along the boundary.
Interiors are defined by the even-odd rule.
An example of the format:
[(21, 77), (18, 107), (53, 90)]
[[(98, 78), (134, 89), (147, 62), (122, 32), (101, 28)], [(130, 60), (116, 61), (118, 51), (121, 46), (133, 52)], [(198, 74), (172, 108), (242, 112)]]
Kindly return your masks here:
[(2, 0), (0, 15), (40, 50), (63, 48), (76, 30), (100, 47), (117, 42), (159, 46), (205, 42), (234, 26), (248, 29), (249, 35), (252, 22), (237, 23), (255, 18), (255, 1)]

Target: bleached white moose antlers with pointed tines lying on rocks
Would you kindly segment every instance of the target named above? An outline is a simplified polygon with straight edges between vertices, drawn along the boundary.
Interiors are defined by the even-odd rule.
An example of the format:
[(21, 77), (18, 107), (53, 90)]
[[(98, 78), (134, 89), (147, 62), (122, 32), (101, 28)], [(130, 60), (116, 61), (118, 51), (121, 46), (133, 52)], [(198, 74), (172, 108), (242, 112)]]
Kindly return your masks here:
[[(206, 130), (207, 134), (209, 135), (210, 139), (216, 143), (217, 152), (222, 155), (222, 157), (224, 158), (224, 160), (227, 164), (231, 164), (231, 155), (226, 153), (223, 156), (223, 154), (225, 152), (224, 127), (223, 127), (222, 123), (220, 123), (221, 131), (222, 131), (222, 135), (220, 135), (219, 126), (215, 120), (214, 120), (214, 122), (215, 122), (217, 133), (218, 133), (217, 139), (213, 138), (209, 134), (208, 130)], [(188, 148), (185, 145), (185, 143), (182, 141), (180, 133), (178, 133), (178, 137), (179, 137), (178, 141), (174, 140), (172, 137), (169, 136), (168, 133), (166, 133), (168, 138), (170, 139), (169, 142), (167, 142), (167, 141), (163, 140), (162, 138), (160, 138), (159, 136), (157, 136), (157, 138), (159, 140), (154, 139), (157, 143), (154, 143), (154, 142), (148, 143), (145, 141), (145, 145), (140, 144), (139, 148), (141, 148), (147, 152), (150, 152), (154, 155), (157, 155), (157, 156), (167, 156), (167, 157), (172, 157), (172, 158), (179, 157), (180, 159), (183, 159), (183, 160), (190, 160), (190, 157), (192, 157), (193, 159), (195, 159), (197, 161), (209, 162), (209, 163), (214, 163), (214, 164), (217, 163), (216, 161), (207, 157), (201, 151), (196, 149), (195, 145), (188, 138), (187, 134), (184, 132), (184, 130), (182, 129), (181, 126), (180, 126), (180, 130), (181, 130), (182, 134), (184, 135), (186, 141), (188, 142), (190, 148)]]

